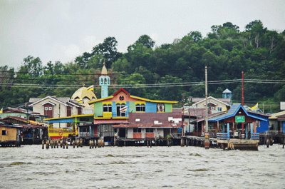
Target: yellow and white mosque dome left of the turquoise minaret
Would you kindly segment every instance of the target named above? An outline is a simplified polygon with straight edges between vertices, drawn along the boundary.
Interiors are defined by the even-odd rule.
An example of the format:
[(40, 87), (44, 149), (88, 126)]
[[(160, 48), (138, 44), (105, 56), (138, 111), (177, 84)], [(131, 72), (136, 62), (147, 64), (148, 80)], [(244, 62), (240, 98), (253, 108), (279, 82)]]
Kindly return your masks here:
[(71, 99), (78, 101), (78, 103), (83, 103), (83, 106), (89, 106), (88, 102), (96, 100), (97, 97), (93, 93), (93, 86), (88, 88), (83, 86), (73, 93)]

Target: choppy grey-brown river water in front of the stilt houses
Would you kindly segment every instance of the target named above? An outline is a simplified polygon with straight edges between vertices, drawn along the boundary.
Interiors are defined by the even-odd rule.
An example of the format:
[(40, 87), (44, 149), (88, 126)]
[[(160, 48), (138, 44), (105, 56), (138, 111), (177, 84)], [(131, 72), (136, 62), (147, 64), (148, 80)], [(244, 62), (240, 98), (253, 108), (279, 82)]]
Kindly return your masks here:
[(285, 149), (0, 148), (0, 188), (285, 188)]

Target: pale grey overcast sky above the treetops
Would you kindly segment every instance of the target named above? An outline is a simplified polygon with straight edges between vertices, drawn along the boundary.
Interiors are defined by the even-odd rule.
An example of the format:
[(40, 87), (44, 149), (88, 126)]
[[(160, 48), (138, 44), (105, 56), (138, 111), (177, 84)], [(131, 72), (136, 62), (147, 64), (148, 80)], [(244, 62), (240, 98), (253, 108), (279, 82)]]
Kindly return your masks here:
[(125, 52), (142, 34), (160, 46), (227, 21), (243, 31), (256, 19), (284, 31), (285, 1), (0, 0), (0, 66), (19, 68), (28, 55), (66, 63), (108, 36)]

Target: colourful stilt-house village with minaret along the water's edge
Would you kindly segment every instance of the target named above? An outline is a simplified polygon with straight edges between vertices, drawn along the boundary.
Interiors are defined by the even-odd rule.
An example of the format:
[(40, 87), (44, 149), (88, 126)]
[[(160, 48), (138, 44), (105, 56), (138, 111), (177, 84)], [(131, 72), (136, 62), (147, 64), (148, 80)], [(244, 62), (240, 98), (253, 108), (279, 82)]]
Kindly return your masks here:
[(284, 109), (267, 115), (258, 103), (253, 107), (244, 106), (243, 101), (233, 104), (228, 88), (222, 98), (207, 96), (207, 67), (205, 73), (205, 97), (189, 97), (182, 107), (174, 108), (178, 101), (133, 96), (124, 88), (110, 95), (104, 64), (100, 98), (93, 86), (83, 86), (71, 98), (30, 98), (23, 108), (2, 108), (0, 145), (42, 144), (43, 149), (193, 145), (258, 150), (259, 145), (279, 143), (284, 148)]

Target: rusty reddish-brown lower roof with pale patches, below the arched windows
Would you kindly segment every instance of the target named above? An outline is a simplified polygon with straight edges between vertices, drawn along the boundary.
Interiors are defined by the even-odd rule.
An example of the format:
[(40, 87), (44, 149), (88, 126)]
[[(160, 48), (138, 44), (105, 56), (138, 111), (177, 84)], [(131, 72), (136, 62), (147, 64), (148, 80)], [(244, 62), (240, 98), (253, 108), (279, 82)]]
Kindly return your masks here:
[(173, 113), (130, 113), (129, 124), (120, 124), (113, 128), (180, 128), (181, 112)]

